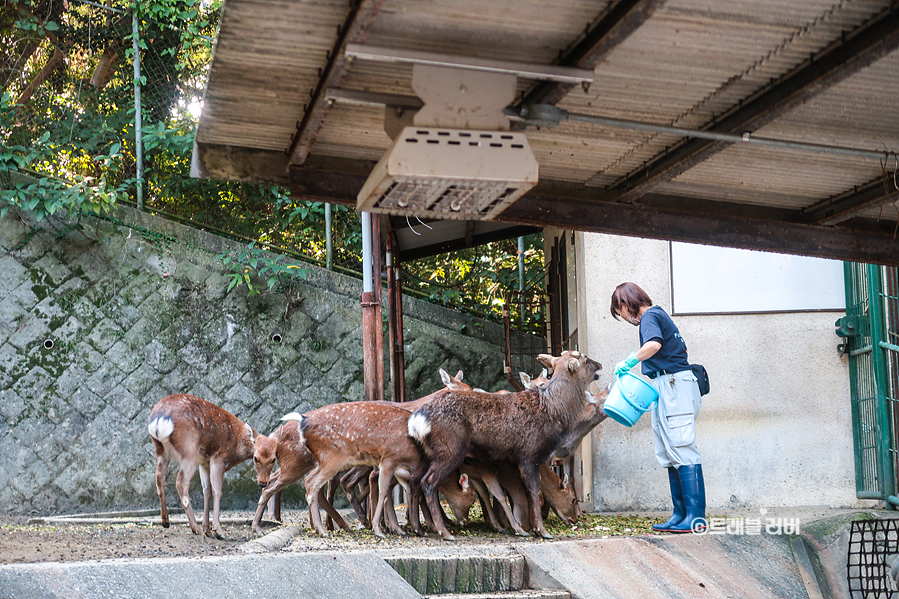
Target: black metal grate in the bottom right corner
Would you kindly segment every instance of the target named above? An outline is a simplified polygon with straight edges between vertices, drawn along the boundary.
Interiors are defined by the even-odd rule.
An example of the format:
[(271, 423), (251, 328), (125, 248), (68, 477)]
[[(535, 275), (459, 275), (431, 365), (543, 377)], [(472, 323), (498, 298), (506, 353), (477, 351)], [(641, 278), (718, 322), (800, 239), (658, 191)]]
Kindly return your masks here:
[(849, 533), (846, 577), (852, 599), (893, 599), (899, 587), (887, 557), (899, 553), (899, 520), (856, 520)]

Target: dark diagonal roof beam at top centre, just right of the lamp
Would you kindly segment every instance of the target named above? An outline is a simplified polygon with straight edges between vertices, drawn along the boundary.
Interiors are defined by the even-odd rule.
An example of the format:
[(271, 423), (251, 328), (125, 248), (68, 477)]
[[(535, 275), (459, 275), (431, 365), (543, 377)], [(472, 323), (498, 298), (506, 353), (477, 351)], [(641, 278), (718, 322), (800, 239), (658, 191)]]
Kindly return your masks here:
[[(596, 68), (664, 3), (665, 0), (620, 0), (561, 58), (559, 66)], [(558, 104), (574, 87), (572, 83), (544, 81), (535, 85), (520, 104)]]

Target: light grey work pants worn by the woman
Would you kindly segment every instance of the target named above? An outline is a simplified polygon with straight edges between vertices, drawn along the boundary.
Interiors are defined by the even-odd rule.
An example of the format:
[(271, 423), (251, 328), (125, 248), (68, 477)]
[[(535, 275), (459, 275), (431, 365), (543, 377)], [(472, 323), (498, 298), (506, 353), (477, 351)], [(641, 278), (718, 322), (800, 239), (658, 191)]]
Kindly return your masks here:
[(702, 406), (692, 370), (662, 374), (650, 381), (659, 392), (652, 411), (656, 459), (662, 468), (700, 464), (696, 448), (696, 418)]

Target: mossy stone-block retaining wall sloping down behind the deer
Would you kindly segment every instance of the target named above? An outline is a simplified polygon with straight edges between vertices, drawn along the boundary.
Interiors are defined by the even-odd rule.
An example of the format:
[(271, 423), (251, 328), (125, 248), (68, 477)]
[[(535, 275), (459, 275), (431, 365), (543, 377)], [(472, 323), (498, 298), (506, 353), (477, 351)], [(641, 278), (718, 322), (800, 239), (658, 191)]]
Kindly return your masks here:
[[(290, 302), (228, 292), (216, 255), (245, 247), (126, 208), (0, 219), (0, 510), (158, 505), (147, 415), (172, 393), (265, 433), (287, 412), (361, 399), (361, 281), (307, 265)], [(506, 387), (501, 326), (403, 303), (410, 398), (441, 387), (441, 367)], [(197, 506), (198, 479), (193, 489)], [(293, 490), (289, 502), (302, 497)], [(223, 507), (258, 497), (250, 462), (227, 475)]]

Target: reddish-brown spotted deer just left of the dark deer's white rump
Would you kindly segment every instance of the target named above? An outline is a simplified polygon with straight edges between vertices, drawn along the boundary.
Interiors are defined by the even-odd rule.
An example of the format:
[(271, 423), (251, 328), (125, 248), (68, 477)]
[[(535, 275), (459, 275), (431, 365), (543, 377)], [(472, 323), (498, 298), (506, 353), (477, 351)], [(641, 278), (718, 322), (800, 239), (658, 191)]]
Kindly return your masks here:
[[(304, 484), (309, 520), (316, 532), (328, 536), (319, 512), (322, 486), (342, 470), (365, 465), (378, 468), (379, 494), (371, 524), (375, 535), (385, 537), (381, 517), (390, 481), (397, 474), (409, 478), (423, 458), (419, 447), (406, 434), (409, 412), (389, 402), (357, 401), (331, 404), (305, 414), (292, 412), (282, 420), (299, 422), (303, 443), (315, 457), (315, 467), (306, 475)], [(410, 489), (410, 524), (417, 534), (423, 534), (418, 522), (416, 484), (413, 482)], [(398, 527), (393, 532), (405, 534)]]

